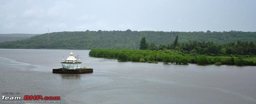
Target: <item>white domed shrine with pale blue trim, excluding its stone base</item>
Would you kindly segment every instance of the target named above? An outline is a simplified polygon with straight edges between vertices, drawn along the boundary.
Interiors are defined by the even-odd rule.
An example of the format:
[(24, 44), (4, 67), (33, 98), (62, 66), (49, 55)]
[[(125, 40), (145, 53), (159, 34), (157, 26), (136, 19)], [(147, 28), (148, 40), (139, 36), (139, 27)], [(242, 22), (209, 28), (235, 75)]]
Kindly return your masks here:
[(78, 61), (76, 60), (76, 58), (73, 56), (72, 50), (71, 53), (69, 54), (69, 57), (66, 59), (66, 61), (64, 61), (64, 59), (62, 59), (62, 62), (60, 62), (62, 64), (62, 68), (67, 68), (67, 69), (80, 69), (81, 68), (81, 63), (80, 59), (78, 59)]

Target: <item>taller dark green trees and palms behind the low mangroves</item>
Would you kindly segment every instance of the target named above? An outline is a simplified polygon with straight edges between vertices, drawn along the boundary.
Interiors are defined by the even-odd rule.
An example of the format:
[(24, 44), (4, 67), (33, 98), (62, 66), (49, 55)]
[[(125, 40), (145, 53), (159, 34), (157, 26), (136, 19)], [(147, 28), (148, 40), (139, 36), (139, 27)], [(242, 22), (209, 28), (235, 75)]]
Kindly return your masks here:
[(242, 42), (238, 40), (235, 42), (228, 42), (226, 44), (220, 45), (217, 43), (211, 42), (197, 42), (188, 40), (188, 43), (179, 43), (178, 36), (176, 36), (173, 43), (164, 45), (155, 43), (147, 43), (146, 37), (142, 37), (140, 41), (140, 49), (141, 50), (166, 50), (166, 49), (174, 49), (180, 51), (184, 54), (190, 55), (249, 55), (253, 56), (256, 52), (256, 44), (253, 41), (245, 41)]

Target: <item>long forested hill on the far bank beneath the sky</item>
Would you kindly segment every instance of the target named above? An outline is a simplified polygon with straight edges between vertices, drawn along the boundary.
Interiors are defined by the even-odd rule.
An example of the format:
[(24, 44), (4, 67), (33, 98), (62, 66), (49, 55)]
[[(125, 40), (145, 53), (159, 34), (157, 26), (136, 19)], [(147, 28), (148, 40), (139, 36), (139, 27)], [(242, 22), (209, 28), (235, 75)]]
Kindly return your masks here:
[(147, 43), (171, 44), (179, 35), (179, 43), (191, 41), (213, 41), (217, 44), (228, 42), (256, 42), (256, 32), (163, 32), (163, 31), (75, 31), (53, 32), (28, 39), (1, 42), (0, 48), (19, 49), (139, 49), (140, 40), (146, 37)]

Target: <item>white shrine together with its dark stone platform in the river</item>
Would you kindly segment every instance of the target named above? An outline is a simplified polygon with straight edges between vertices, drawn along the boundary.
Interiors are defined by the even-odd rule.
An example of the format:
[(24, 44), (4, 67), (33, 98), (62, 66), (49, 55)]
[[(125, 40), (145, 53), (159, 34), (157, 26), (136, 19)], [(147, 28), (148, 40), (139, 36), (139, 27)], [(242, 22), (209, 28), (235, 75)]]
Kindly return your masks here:
[(78, 61), (76, 60), (76, 58), (73, 56), (72, 51), (66, 61), (62, 59), (62, 62), (60, 63), (62, 64), (62, 68), (52, 69), (52, 73), (84, 74), (93, 72), (92, 68), (81, 68), (82, 62), (80, 62), (79, 58)]

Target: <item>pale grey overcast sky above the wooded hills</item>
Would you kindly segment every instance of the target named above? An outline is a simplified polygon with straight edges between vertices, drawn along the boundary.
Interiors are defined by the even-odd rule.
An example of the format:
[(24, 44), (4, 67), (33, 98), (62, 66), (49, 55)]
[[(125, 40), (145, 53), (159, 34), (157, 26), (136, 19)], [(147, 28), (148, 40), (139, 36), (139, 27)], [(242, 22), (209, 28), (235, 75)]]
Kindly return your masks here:
[(256, 31), (256, 0), (1, 0), (0, 34)]

